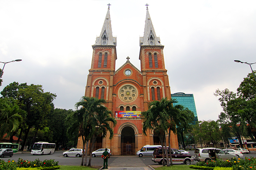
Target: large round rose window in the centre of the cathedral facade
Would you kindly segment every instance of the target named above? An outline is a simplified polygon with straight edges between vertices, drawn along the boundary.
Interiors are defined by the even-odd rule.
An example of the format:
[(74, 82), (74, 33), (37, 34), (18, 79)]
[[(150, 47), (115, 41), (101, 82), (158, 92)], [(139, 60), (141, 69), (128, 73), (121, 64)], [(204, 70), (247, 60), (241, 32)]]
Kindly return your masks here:
[(132, 85), (124, 85), (119, 89), (118, 96), (121, 100), (129, 102), (137, 98), (137, 89)]

